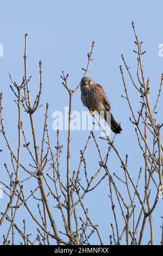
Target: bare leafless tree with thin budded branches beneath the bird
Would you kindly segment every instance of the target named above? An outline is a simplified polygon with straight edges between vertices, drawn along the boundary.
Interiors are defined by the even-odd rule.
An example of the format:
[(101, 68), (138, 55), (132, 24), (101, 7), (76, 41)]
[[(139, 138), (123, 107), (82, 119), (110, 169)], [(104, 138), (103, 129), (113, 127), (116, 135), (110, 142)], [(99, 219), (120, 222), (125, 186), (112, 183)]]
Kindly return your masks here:
[[(143, 157), (144, 164), (140, 166), (137, 173), (137, 180), (134, 180), (131, 173), (134, 166), (128, 166), (128, 158), (131, 154), (126, 154), (126, 159), (123, 159), (120, 150), (116, 147), (116, 140), (120, 137), (114, 136), (112, 139), (105, 133), (99, 120), (95, 117), (96, 125), (100, 126), (105, 133), (104, 137), (96, 138), (93, 131), (89, 133), (89, 137), (85, 143), (85, 147), (80, 151), (79, 166), (77, 170), (73, 170), (70, 165), (71, 150), (71, 112), (72, 100), (79, 89), (78, 84), (75, 89), (68, 86), (68, 74), (62, 71), (62, 85), (65, 87), (69, 97), (69, 112), (68, 112), (68, 137), (67, 137), (67, 160), (66, 160), (66, 180), (65, 174), (60, 172), (60, 156), (62, 147), (60, 145), (60, 132), (57, 131), (57, 145), (52, 144), (48, 129), (48, 103), (45, 109), (44, 125), (42, 127), (42, 140), (38, 144), (37, 132), (35, 130), (34, 113), (37, 111), (41, 101), (42, 93), (42, 63), (39, 63), (40, 70), (40, 87), (39, 93), (36, 95), (34, 103), (31, 100), (29, 83), (31, 77), (27, 75), (27, 38), (25, 35), (24, 46), (24, 76), (22, 83), (18, 85), (11, 80), (10, 89), (12, 90), (15, 103), (18, 108), (18, 146), (17, 155), (12, 149), (7, 133), (5, 132), (3, 111), (2, 111), (2, 93), (0, 97), (1, 113), (1, 133), (5, 144), (8, 147), (10, 154), (10, 163), (4, 163), (5, 173), (8, 175), (8, 182), (1, 178), (3, 191), (7, 195), (8, 201), (5, 202), (6, 208), (1, 212), (0, 224), (8, 223), (8, 229), (3, 235), (3, 244), (15, 244), (15, 236), (19, 237), (20, 243), (23, 245), (90, 245), (91, 237), (96, 235), (97, 244), (103, 245), (103, 236), (100, 234), (100, 227), (97, 223), (91, 220), (91, 209), (89, 205), (85, 206), (85, 198), (88, 193), (93, 193), (97, 187), (108, 180), (109, 202), (114, 216), (114, 223), (110, 223), (112, 234), (108, 236), (108, 245), (142, 245), (143, 234), (149, 221), (148, 245), (154, 245), (154, 228), (153, 228), (153, 212), (155, 211), (159, 198), (162, 199), (162, 144), (161, 144), (161, 127), (156, 121), (156, 108), (159, 103), (163, 75), (158, 92), (158, 97), (154, 107), (151, 106), (150, 95), (150, 79), (146, 78), (143, 71), (142, 57), (145, 53), (142, 52), (142, 42), (139, 41), (134, 22), (132, 23), (135, 35), (135, 44), (137, 54), (136, 81), (131, 75), (129, 66), (122, 55), (124, 69), (129, 76), (131, 83), (135, 88), (137, 100), (141, 99), (140, 108), (134, 109), (132, 102), (129, 99), (128, 87), (124, 78), (124, 71), (120, 66), (122, 82), (124, 86), (124, 95), (131, 117), (130, 122), (135, 126), (135, 141), (139, 145), (140, 152)], [(84, 76), (89, 70), (92, 61), (92, 53), (95, 42), (92, 42), (91, 51), (87, 54), (88, 62), (86, 68), (83, 69)], [(140, 98), (141, 97), (141, 98)], [(22, 113), (22, 109), (24, 112)], [(26, 126), (23, 126), (22, 115), (26, 115), (29, 119), (32, 137), (27, 138)], [(86, 165), (86, 149), (89, 147), (90, 141), (93, 141), (94, 147), (97, 149), (99, 159), (99, 167), (96, 172), (89, 178)], [(102, 156), (100, 143), (106, 147), (106, 154)], [(22, 163), (22, 150), (26, 150), (30, 157), (30, 161)], [(110, 152), (113, 151), (117, 162), (120, 164), (120, 171), (113, 173), (109, 169), (108, 159)], [(73, 157), (73, 156), (72, 156)], [(72, 158), (73, 159), (73, 158)], [(74, 160), (75, 161), (75, 160)], [(84, 170), (84, 172), (82, 172)], [(100, 176), (103, 170), (103, 175)], [(2, 174), (1, 174), (2, 176)], [(35, 188), (31, 190), (30, 181), (35, 181)], [(145, 187), (145, 190), (143, 188)], [(123, 189), (122, 189), (123, 188)], [(39, 193), (40, 191), (40, 193)], [(37, 195), (40, 194), (40, 197)], [(151, 196), (151, 194), (153, 196)], [(30, 200), (37, 205), (33, 211)], [(56, 204), (53, 209), (52, 204)], [(108, 204), (109, 204), (108, 202)], [(27, 233), (27, 220), (23, 220), (22, 228), (17, 224), (18, 212), (23, 214), (25, 208), (31, 218), (33, 227), (31, 233)], [(88, 209), (89, 208), (89, 209)], [(105, 205), (104, 205), (105, 209)], [(59, 214), (58, 214), (59, 212)], [(161, 216), (160, 221), (161, 221)], [(59, 218), (59, 219), (58, 219)], [(108, 220), (109, 221), (109, 220)], [(121, 225), (119, 225), (121, 222)], [(158, 227), (159, 230), (160, 227)], [(158, 231), (157, 230), (157, 231)], [(160, 243), (163, 245), (163, 228), (160, 229)]]

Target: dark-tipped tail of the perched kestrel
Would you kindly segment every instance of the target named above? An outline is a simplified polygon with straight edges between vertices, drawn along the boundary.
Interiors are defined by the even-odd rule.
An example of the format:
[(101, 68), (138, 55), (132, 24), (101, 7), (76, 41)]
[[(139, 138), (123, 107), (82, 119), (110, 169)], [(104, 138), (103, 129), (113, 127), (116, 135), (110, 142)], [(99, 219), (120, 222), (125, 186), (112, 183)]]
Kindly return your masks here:
[(106, 123), (109, 126), (111, 126), (110, 127), (111, 131), (113, 131), (114, 133), (121, 133), (121, 131), (122, 131), (121, 125), (116, 122), (116, 120), (114, 119), (112, 114), (110, 114), (110, 111), (104, 112), (104, 119), (105, 119)]

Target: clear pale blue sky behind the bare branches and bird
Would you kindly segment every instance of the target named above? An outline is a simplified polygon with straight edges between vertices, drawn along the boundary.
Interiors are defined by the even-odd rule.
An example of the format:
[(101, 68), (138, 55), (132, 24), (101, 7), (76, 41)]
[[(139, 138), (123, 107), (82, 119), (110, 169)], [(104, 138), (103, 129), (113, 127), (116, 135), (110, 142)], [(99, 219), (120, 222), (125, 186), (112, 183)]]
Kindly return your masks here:
[[(122, 78), (119, 66), (122, 64), (121, 54), (126, 57), (130, 70), (136, 76), (136, 55), (133, 49), (135, 38), (131, 22), (135, 27), (143, 49), (146, 54), (143, 57), (146, 78), (151, 78), (151, 102), (154, 106), (161, 74), (163, 71), (163, 57), (159, 57), (159, 44), (163, 43), (162, 36), (162, 1), (97, 1), (97, 0), (60, 0), (60, 1), (3, 1), (1, 3), (0, 15), (0, 43), (3, 44), (3, 57), (0, 57), (0, 90), (3, 92), (3, 117), (5, 129), (12, 144), (17, 150), (17, 106), (9, 88), (9, 72), (17, 83), (21, 83), (23, 76), (23, 51), (24, 34), (28, 33), (28, 75), (32, 75), (30, 90), (32, 99), (39, 89), (39, 60), (42, 61), (43, 70), (43, 92), (41, 103), (43, 107), (35, 113), (35, 126), (37, 130), (37, 141), (41, 142), (43, 113), (46, 102), (49, 102), (49, 130), (53, 143), (56, 143), (55, 132), (52, 130), (52, 113), (55, 110), (63, 111), (68, 106), (68, 95), (61, 84), (61, 72), (64, 70), (69, 74), (68, 83), (73, 89), (79, 83), (87, 63), (87, 52), (90, 51), (91, 43), (95, 40), (93, 50), (93, 62), (89, 68), (89, 76), (102, 84), (109, 97), (112, 113), (121, 122), (123, 132), (116, 139), (116, 146), (125, 157), (129, 154), (129, 166), (131, 173), (136, 178), (142, 164), (140, 150), (135, 138), (135, 127), (130, 123), (130, 112), (127, 102), (122, 99), (123, 93)], [(130, 99), (133, 105), (139, 109), (139, 97), (137, 97), (132, 84), (127, 80), (130, 87)], [(162, 109), (162, 97), (158, 107)], [(73, 110), (82, 112), (84, 107), (80, 101), (80, 90), (73, 96)], [(158, 120), (161, 122), (161, 115)], [(29, 121), (26, 115), (23, 116), (23, 123), (27, 126), (27, 136), (31, 136)], [(14, 135), (14, 136), (13, 136)], [(98, 138), (99, 132), (95, 132)], [(89, 131), (72, 132), (72, 158), (71, 170), (77, 169), (80, 149), (83, 149)], [(64, 144), (61, 170), (64, 172), (66, 165), (66, 138), (67, 132), (60, 133), (60, 144)], [(4, 140), (1, 136), (1, 148), (4, 147)], [(102, 154), (107, 151), (107, 145), (99, 140)], [(93, 143), (87, 149), (87, 168), (90, 176), (98, 167), (98, 161), (93, 161), (96, 156), (96, 149)], [(137, 160), (135, 162), (135, 159)], [(22, 155), (22, 161), (26, 160), (26, 153)], [(1, 168), (3, 163), (9, 161), (7, 150), (3, 150)], [(65, 161), (65, 162), (64, 162)], [(110, 155), (109, 168), (112, 173), (121, 172), (120, 163), (114, 154)], [(3, 173), (3, 174), (2, 174)], [(64, 173), (62, 173), (64, 175)], [(2, 176), (4, 175), (4, 176)], [(65, 174), (66, 175), (66, 174)], [(1, 179), (6, 179), (4, 172), (1, 172)], [(143, 185), (142, 185), (143, 191)], [(111, 234), (110, 222), (114, 222), (108, 198), (108, 181), (101, 184), (97, 192), (90, 194), (86, 199), (87, 207), (90, 208), (90, 216), (99, 227), (107, 243)], [(103, 198), (101, 200), (100, 198)], [(95, 200), (96, 199), (96, 200)], [(0, 201), (4, 209), (3, 200)], [(33, 205), (35, 209), (35, 205)], [(157, 218), (158, 227), (161, 225), (161, 204), (153, 215)], [(17, 212), (18, 214), (18, 212)], [(25, 210), (24, 210), (25, 215)], [(28, 218), (28, 217), (27, 217)], [(21, 221), (18, 220), (21, 225)], [(30, 218), (29, 218), (29, 223)], [(60, 223), (59, 223), (60, 225)], [(29, 230), (33, 228), (30, 227)], [(5, 225), (1, 227), (2, 232)], [(33, 231), (33, 230), (32, 230)], [(149, 231), (149, 230), (148, 230)], [(160, 242), (161, 229), (156, 231), (155, 243)], [(96, 243), (96, 239), (92, 239)], [(145, 243), (147, 243), (145, 238)]]

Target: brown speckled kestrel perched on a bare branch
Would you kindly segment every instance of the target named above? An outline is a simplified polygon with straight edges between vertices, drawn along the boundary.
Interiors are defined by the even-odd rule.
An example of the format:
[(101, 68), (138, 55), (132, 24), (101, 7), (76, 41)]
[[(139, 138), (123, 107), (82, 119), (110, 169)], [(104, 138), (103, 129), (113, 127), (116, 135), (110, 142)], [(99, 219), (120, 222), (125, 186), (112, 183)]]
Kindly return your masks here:
[[(80, 82), (81, 99), (92, 115), (102, 114), (105, 121), (111, 126), (114, 133), (121, 133), (121, 125), (110, 115), (110, 103), (103, 87), (94, 82), (90, 77), (83, 77)], [(110, 117), (110, 118), (109, 118)], [(110, 121), (109, 121), (110, 120)]]

